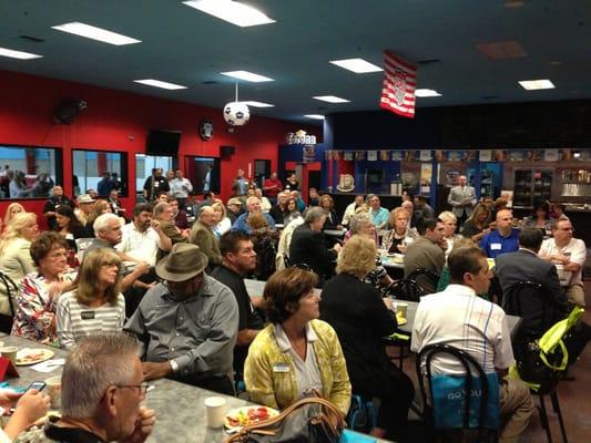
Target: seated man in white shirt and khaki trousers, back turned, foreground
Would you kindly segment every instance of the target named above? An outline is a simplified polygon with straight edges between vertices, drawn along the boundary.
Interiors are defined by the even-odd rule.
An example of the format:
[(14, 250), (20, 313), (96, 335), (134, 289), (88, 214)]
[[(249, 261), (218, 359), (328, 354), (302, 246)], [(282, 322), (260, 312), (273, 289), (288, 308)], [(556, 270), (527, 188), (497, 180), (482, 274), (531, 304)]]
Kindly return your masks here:
[[(410, 349), (450, 344), (468, 352), (486, 373), (499, 375), (500, 442), (517, 442), (528, 427), (533, 401), (520, 380), (507, 380), (513, 350), (501, 308), (477, 296), (486, 293), (492, 274), (486, 255), (476, 247), (458, 248), (448, 258), (451, 285), (442, 292), (422, 297), (415, 315)], [(456, 359), (435, 357), (434, 374), (461, 375)]]

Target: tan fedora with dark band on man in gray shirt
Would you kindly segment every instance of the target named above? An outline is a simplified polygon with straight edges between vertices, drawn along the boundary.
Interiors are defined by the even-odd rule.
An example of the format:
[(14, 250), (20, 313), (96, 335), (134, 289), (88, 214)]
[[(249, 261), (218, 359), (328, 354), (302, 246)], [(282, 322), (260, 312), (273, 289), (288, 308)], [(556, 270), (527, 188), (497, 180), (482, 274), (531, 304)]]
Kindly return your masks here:
[(202, 272), (207, 261), (207, 256), (197, 245), (177, 243), (171, 254), (157, 262), (156, 275), (169, 281), (185, 281)]

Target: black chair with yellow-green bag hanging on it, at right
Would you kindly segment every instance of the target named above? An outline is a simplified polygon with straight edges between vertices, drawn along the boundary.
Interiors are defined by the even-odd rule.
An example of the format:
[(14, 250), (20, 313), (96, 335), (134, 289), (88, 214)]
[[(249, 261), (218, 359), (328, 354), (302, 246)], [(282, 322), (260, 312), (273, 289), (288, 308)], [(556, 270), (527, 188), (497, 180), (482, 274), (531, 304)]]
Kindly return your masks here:
[[(551, 298), (543, 293), (541, 285), (529, 280), (518, 281), (511, 285), (503, 293), (502, 307), (507, 313), (519, 316), (523, 319), (519, 332), (514, 338), (516, 349), (523, 349), (531, 340), (540, 338), (558, 320), (552, 316), (553, 302)], [(516, 352), (516, 354), (520, 356), (522, 353)], [(550, 423), (546, 410), (546, 395), (550, 395), (552, 410), (558, 415), (562, 441), (568, 442), (567, 430), (557, 393), (558, 380), (559, 377), (557, 377), (556, 384), (546, 387), (543, 391), (530, 390), (539, 399), (537, 408), (549, 443), (552, 443), (552, 433), (550, 432)]]

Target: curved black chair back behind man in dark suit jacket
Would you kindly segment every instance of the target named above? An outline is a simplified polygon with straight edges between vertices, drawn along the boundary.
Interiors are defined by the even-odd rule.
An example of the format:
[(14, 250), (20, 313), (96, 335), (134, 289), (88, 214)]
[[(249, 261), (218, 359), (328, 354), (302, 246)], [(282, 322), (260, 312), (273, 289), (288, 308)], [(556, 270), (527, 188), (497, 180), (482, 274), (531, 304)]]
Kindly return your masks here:
[(540, 337), (554, 323), (550, 297), (544, 297), (542, 286), (531, 280), (511, 285), (501, 306), (506, 313), (523, 319), (520, 337)]

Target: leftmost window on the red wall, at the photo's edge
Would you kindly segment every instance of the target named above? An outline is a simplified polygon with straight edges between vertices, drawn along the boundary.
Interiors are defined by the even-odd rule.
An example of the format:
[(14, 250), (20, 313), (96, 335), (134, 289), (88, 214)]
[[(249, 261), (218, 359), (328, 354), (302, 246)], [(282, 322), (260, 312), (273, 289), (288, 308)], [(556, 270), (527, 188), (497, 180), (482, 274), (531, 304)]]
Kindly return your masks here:
[(48, 198), (62, 184), (61, 151), (52, 147), (0, 145), (0, 197)]

